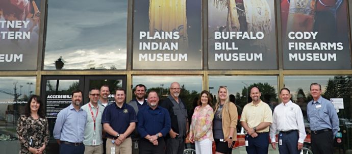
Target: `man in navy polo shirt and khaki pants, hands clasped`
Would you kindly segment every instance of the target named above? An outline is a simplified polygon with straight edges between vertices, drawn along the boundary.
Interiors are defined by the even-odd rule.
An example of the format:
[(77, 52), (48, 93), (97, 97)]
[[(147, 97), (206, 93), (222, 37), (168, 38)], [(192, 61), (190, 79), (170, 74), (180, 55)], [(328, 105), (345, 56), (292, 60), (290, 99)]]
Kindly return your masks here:
[(115, 103), (105, 108), (102, 123), (107, 132), (106, 153), (114, 150), (118, 153), (131, 153), (132, 140), (130, 134), (136, 127), (136, 113), (130, 105), (124, 103), (126, 91), (115, 90)]

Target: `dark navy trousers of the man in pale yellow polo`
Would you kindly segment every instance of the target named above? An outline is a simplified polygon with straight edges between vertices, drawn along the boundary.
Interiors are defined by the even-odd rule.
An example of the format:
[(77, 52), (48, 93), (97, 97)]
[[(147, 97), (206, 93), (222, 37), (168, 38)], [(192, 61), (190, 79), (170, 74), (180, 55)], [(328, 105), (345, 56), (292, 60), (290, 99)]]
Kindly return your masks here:
[(248, 141), (246, 151), (248, 154), (268, 154), (269, 148), (269, 133), (257, 133), (256, 138), (246, 135), (245, 139)]

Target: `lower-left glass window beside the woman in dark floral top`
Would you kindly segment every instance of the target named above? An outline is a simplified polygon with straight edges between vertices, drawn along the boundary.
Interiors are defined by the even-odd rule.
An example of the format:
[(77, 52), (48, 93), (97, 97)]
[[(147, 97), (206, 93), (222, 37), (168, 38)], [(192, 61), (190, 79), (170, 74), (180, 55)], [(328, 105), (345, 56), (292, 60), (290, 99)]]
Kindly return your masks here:
[(35, 76), (0, 77), (0, 149), (4, 153), (15, 154), (20, 149), (17, 119), (35, 89)]

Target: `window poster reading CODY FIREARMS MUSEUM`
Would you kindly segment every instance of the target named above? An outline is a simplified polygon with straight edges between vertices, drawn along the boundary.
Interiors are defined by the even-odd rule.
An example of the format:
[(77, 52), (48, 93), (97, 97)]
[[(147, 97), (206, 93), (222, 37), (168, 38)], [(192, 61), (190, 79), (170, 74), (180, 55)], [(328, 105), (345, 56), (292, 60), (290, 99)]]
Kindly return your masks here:
[(345, 0), (282, 0), (284, 69), (350, 69)]

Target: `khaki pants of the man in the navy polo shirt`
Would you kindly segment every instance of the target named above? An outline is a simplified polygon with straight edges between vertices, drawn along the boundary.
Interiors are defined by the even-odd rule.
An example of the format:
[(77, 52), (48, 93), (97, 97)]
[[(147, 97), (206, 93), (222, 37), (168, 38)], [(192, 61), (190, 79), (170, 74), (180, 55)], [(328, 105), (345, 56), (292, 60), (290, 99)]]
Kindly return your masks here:
[[(107, 139), (106, 140), (106, 154), (111, 153), (111, 147), (112, 147), (112, 139)], [(124, 153), (132, 153), (132, 139), (131, 137), (125, 139), (119, 146), (114, 144), (115, 146), (115, 154), (124, 154)]]

